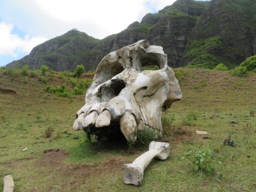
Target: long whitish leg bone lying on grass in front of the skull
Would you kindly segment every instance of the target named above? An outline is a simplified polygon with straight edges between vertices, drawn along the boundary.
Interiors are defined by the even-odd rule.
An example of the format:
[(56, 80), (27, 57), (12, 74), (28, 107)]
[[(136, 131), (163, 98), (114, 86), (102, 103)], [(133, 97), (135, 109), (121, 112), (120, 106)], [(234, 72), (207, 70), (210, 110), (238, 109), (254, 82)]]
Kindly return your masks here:
[(125, 184), (141, 185), (144, 169), (153, 158), (165, 160), (170, 153), (169, 143), (152, 141), (149, 150), (136, 158), (131, 164), (123, 165), (123, 182)]

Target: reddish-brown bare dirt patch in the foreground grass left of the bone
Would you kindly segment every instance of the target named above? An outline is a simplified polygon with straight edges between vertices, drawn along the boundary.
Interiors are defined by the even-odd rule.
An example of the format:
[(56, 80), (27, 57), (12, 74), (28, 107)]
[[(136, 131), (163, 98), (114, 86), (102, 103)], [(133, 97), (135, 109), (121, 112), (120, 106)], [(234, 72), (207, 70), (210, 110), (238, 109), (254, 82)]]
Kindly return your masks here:
[(60, 165), (60, 162), (67, 157), (69, 157), (69, 154), (63, 150), (51, 151), (42, 155), (42, 157), (37, 161), (37, 164), (40, 166), (58, 166)]

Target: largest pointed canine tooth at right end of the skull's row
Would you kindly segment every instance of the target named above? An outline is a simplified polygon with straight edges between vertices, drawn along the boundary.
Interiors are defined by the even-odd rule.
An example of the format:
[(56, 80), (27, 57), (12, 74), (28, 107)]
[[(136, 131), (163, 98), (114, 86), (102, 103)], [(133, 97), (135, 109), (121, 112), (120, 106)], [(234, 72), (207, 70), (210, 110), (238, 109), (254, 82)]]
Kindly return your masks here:
[(125, 112), (120, 118), (120, 129), (127, 141), (135, 141), (137, 139), (137, 123), (134, 115)]

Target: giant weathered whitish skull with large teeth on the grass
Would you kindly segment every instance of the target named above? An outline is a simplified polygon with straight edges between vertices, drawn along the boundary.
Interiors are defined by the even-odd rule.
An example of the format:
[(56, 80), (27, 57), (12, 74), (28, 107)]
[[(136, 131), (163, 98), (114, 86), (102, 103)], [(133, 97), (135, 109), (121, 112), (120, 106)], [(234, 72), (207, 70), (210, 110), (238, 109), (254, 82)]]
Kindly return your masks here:
[[(160, 70), (141, 70), (152, 65)], [(161, 112), (181, 97), (163, 48), (140, 40), (100, 61), (73, 130), (83, 129), (99, 139), (115, 139), (121, 131), (127, 141), (135, 141), (138, 132), (151, 129), (158, 138), (162, 136)]]

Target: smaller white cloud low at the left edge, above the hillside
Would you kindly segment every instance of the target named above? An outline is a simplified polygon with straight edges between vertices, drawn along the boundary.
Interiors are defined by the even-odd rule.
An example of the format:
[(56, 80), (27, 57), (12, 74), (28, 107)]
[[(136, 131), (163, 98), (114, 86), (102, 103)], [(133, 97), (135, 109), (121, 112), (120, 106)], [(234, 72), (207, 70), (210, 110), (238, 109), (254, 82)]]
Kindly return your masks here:
[(29, 53), (35, 46), (47, 40), (44, 37), (30, 37), (29, 35), (20, 38), (11, 33), (12, 29), (13, 24), (0, 23), (0, 55), (15, 57), (17, 51)]

